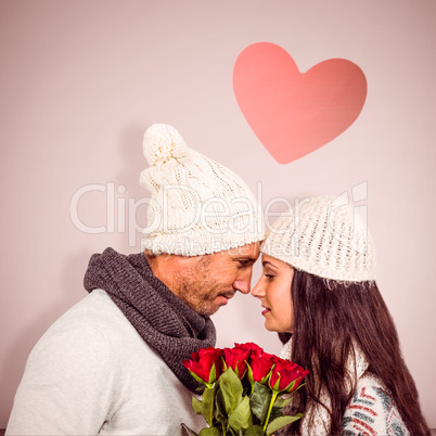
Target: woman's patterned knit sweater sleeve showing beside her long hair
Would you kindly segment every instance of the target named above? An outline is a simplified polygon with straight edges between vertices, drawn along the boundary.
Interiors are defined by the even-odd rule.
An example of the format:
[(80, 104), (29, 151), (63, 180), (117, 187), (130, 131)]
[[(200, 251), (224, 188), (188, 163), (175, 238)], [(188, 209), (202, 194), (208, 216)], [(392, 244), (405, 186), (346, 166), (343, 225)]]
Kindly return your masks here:
[(410, 435), (386, 388), (362, 377), (343, 421), (343, 435)]

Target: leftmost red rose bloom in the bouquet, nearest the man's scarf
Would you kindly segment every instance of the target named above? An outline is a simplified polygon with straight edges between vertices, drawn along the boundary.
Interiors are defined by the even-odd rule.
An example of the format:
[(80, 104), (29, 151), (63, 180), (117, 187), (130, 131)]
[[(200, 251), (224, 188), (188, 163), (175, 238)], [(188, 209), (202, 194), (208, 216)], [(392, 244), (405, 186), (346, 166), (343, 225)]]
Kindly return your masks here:
[(197, 381), (215, 383), (222, 372), (221, 356), (220, 348), (200, 348), (198, 352), (191, 355), (190, 360), (183, 360), (183, 366)]

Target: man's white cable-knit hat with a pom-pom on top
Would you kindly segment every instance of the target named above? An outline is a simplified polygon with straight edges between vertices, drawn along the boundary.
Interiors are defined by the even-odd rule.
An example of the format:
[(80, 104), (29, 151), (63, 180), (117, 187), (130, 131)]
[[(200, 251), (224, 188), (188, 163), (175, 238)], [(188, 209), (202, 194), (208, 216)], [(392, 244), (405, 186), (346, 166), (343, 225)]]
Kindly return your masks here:
[(152, 193), (143, 248), (198, 256), (265, 238), (261, 208), (244, 181), (190, 149), (174, 127), (152, 125), (143, 151), (150, 167), (140, 184)]

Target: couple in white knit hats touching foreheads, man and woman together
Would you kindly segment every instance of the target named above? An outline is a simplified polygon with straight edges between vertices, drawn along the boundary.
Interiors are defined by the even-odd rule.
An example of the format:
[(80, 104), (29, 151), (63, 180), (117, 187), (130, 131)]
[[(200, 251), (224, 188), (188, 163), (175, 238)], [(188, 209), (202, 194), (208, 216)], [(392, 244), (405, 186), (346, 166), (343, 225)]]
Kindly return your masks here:
[(245, 183), (176, 129), (150, 127), (144, 154), (141, 184), (152, 192), (144, 253), (91, 257), (89, 295), (31, 351), (7, 434), (202, 428), (191, 409), (198, 385), (182, 361), (215, 346), (209, 316), (236, 291), (251, 292), (260, 253), (252, 294), (265, 326), (279, 332), (281, 357), (310, 372), (290, 405), (305, 416), (284, 434), (429, 434), (374, 282), (371, 238), (352, 207), (311, 198), (264, 234)]

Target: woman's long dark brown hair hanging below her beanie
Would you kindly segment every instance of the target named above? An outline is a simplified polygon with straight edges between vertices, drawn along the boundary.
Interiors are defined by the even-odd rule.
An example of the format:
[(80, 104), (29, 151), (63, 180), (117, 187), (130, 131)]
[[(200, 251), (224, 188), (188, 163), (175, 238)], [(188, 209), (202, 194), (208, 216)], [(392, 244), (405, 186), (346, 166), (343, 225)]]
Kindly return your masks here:
[[(412, 435), (429, 435), (422, 414), (416, 386), (402, 359), (394, 320), (375, 283), (329, 281), (304, 271), (294, 271), (293, 352), (291, 360), (308, 369), (305, 387), (295, 396), (291, 413), (305, 412), (310, 398), (319, 402), (320, 384), (331, 400), (332, 435), (342, 433), (345, 410), (352, 392), (346, 389), (346, 361), (357, 343), (369, 361), (368, 371), (390, 392), (401, 418)], [(284, 343), (291, 334), (279, 334)], [(300, 434), (300, 421), (287, 427)]]

